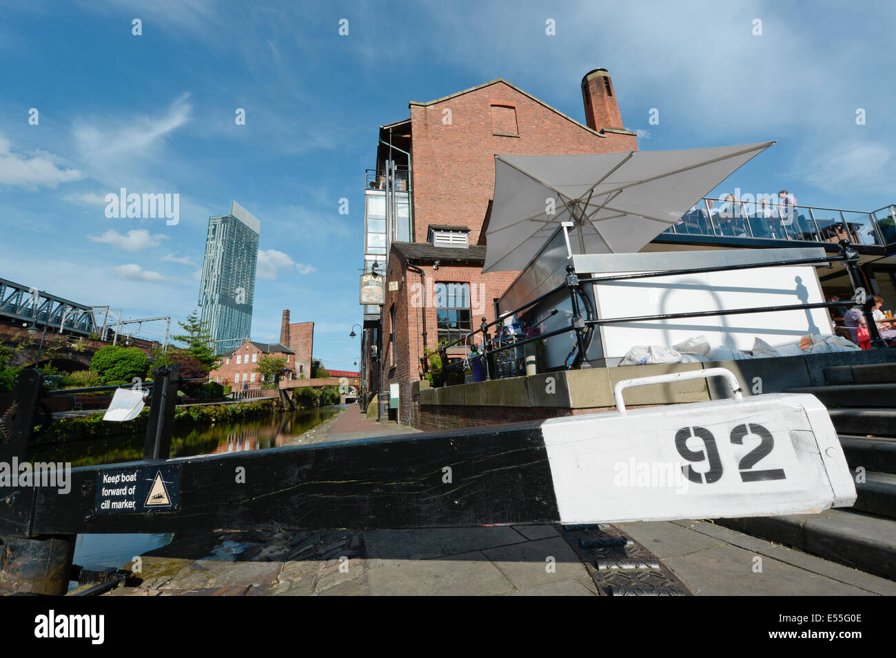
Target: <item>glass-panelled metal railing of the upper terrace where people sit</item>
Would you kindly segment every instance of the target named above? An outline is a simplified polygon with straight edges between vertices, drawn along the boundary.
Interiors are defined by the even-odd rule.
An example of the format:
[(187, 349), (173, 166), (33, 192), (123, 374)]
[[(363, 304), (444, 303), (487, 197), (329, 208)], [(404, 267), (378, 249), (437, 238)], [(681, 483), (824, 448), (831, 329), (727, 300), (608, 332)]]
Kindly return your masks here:
[(896, 206), (866, 212), (704, 198), (664, 234), (854, 245), (896, 244)]

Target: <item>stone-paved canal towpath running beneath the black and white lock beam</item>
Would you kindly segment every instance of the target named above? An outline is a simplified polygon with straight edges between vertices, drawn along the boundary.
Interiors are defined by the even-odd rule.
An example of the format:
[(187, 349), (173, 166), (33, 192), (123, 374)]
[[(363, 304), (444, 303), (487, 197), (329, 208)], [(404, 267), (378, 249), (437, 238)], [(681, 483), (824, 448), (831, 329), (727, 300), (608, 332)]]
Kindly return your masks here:
[[(295, 444), (417, 432), (349, 406)], [(894, 595), (896, 583), (705, 521), (620, 524), (698, 595)], [(553, 526), (228, 533), (142, 556), (108, 595), (595, 595)], [(130, 563), (125, 568), (134, 568)]]

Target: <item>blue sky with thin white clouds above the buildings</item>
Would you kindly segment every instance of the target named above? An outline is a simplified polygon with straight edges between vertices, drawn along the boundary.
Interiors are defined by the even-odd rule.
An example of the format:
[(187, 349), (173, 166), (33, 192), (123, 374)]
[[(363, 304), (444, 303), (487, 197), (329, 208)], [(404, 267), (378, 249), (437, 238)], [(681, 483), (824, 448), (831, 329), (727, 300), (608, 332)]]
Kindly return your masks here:
[[(253, 338), (289, 308), (352, 369), (364, 170), (409, 100), (501, 77), (583, 121), (582, 75), (605, 67), (642, 150), (778, 140), (714, 194), (872, 210), (896, 201), (894, 23), (855, 2), (0, 0), (0, 277), (182, 320), (235, 199), (262, 222)], [(178, 193), (179, 223), (107, 218), (121, 187)]]

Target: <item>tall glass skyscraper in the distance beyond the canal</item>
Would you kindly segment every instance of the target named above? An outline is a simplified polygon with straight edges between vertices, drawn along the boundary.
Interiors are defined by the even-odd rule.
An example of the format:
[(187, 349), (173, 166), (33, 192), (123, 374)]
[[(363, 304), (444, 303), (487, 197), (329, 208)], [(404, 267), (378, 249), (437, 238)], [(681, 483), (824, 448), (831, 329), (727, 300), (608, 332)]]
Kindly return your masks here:
[(261, 230), (261, 222), (237, 201), (230, 202), (229, 215), (209, 218), (199, 307), (218, 354), (250, 337)]

